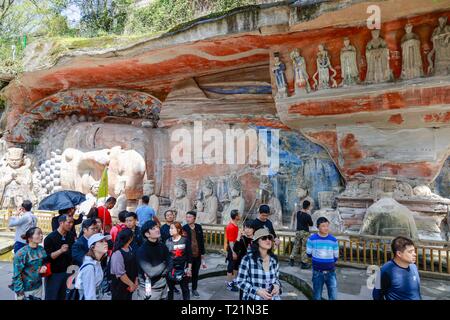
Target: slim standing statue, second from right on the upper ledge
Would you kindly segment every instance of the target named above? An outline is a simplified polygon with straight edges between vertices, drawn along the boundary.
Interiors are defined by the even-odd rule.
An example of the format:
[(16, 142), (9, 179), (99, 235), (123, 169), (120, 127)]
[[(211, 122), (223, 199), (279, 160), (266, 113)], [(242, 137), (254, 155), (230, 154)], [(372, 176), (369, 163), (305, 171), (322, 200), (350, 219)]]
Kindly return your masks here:
[(422, 57), (420, 55), (419, 36), (412, 32), (412, 24), (405, 26), (406, 34), (402, 37), (402, 74), (403, 80), (423, 76)]

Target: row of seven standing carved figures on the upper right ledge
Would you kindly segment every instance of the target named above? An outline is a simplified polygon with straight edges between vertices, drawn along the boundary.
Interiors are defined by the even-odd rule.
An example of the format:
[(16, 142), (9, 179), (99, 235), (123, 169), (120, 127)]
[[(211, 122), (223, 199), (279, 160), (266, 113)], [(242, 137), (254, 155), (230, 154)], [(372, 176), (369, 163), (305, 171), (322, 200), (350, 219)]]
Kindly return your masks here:
[[(422, 57), (420, 54), (420, 39), (413, 31), (413, 25), (405, 26), (406, 34), (401, 39), (402, 48), (402, 80), (414, 79), (424, 76)], [(450, 26), (447, 17), (440, 17), (439, 24), (431, 36), (433, 50), (428, 53), (428, 75), (450, 74)], [(434, 56), (434, 62), (433, 62)], [(311, 89), (321, 90), (336, 88), (335, 77), (337, 71), (330, 62), (330, 56), (323, 44), (318, 46), (316, 57), (317, 71), (312, 76), (313, 88), (310, 87), (309, 75), (306, 72), (305, 58), (300, 55), (299, 49), (294, 49), (290, 57), (294, 71), (295, 94), (305, 94)], [(389, 49), (386, 41), (380, 37), (380, 30), (372, 30), (372, 39), (366, 45), (367, 73), (366, 84), (393, 81), (394, 76), (389, 66)], [(356, 48), (351, 45), (349, 38), (344, 38), (344, 46), (340, 53), (342, 86), (351, 86), (361, 83), (357, 64)], [(277, 86), (277, 98), (287, 97), (286, 65), (280, 60), (278, 52), (274, 53), (274, 66)]]

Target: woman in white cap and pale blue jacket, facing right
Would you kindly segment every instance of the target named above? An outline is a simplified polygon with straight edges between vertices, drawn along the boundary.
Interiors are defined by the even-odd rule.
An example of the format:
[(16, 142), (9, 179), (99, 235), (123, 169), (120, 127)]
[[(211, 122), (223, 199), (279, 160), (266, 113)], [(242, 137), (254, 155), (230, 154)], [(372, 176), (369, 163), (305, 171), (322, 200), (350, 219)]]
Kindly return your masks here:
[(80, 300), (99, 300), (103, 280), (102, 258), (108, 252), (108, 240), (111, 236), (101, 233), (92, 235), (88, 240), (89, 251), (78, 272), (75, 288), (79, 290)]

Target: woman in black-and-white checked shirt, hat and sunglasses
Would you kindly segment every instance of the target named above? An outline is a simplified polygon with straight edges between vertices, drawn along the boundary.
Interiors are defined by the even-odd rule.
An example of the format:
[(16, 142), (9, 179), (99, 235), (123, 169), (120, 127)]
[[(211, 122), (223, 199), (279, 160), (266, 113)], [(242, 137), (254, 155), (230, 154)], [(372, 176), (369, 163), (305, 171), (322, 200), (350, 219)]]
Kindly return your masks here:
[(279, 264), (272, 253), (273, 240), (266, 228), (255, 232), (251, 252), (242, 259), (236, 278), (243, 300), (280, 300)]

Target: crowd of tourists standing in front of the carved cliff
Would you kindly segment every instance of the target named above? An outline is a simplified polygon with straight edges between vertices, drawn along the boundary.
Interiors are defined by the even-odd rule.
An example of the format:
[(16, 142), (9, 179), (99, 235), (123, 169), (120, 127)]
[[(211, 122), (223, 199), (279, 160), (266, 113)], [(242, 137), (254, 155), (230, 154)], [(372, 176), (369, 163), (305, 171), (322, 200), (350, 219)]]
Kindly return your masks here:
[[(199, 298), (200, 269), (206, 269), (203, 228), (196, 223), (197, 213), (188, 211), (176, 221), (169, 209), (165, 223), (157, 219), (147, 196), (135, 212), (122, 211), (113, 224), (111, 210), (116, 199), (93, 207), (74, 219), (75, 208), (60, 210), (52, 219), (53, 231), (45, 239), (32, 213), (32, 203), (24, 201), (9, 221), (16, 228), (14, 272), (11, 289), (18, 300), (183, 300)], [(290, 256), (294, 266), (301, 248), (300, 266), (312, 268), (313, 296), (328, 299), (338, 295), (336, 262), (337, 239), (329, 232), (329, 221), (320, 217), (318, 232), (311, 234), (311, 203), (303, 202), (296, 214), (296, 237)], [(280, 300), (283, 292), (279, 261), (273, 252), (280, 243), (272, 222), (270, 207), (261, 205), (258, 217), (245, 220), (241, 212), (231, 211), (226, 226), (226, 289), (239, 291), (241, 300)], [(81, 224), (79, 234), (75, 225)], [(43, 246), (42, 246), (43, 243)], [(414, 243), (404, 237), (392, 241), (393, 259), (377, 277), (376, 300), (421, 299), (420, 279), (414, 264)], [(309, 262), (310, 261), (310, 262)], [(189, 288), (189, 285), (191, 288)]]

